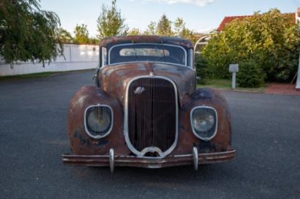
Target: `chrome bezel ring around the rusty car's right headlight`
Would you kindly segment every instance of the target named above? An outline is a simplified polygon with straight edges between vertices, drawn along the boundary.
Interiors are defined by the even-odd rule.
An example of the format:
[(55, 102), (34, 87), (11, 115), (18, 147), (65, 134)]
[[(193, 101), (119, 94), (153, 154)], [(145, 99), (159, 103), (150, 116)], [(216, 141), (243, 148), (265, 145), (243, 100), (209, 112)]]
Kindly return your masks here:
[[(201, 132), (199, 131), (196, 131), (196, 129), (194, 128), (194, 124), (193, 124), (193, 113), (195, 110), (197, 109), (208, 109), (208, 110), (213, 110), (213, 112), (215, 113), (215, 125), (214, 125), (214, 131), (213, 131), (213, 134), (209, 137), (204, 137), (204, 136), (201, 136)], [(204, 141), (209, 141), (211, 139), (213, 139), (213, 137), (215, 137), (215, 135), (217, 134), (217, 131), (218, 131), (218, 113), (217, 113), (217, 110), (215, 110), (215, 108), (211, 107), (211, 106), (206, 106), (206, 105), (200, 105), (200, 106), (196, 106), (194, 108), (192, 108), (191, 110), (191, 113), (189, 115), (189, 120), (190, 120), (190, 124), (191, 124), (191, 127), (192, 127), (192, 131), (193, 131), (193, 134), (201, 139), (201, 140), (204, 140)], [(204, 131), (202, 131), (203, 133)]]

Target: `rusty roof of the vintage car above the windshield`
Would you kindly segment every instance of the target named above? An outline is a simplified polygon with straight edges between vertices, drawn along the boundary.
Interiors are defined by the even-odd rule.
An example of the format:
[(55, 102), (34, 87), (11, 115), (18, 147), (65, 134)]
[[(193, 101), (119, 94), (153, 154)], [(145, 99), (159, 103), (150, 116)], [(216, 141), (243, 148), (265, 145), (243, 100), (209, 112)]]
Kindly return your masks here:
[(118, 44), (172, 44), (182, 46), (185, 49), (194, 49), (191, 41), (182, 39), (180, 37), (159, 37), (159, 36), (123, 36), (123, 37), (109, 37), (102, 39), (100, 47), (110, 49), (111, 46)]

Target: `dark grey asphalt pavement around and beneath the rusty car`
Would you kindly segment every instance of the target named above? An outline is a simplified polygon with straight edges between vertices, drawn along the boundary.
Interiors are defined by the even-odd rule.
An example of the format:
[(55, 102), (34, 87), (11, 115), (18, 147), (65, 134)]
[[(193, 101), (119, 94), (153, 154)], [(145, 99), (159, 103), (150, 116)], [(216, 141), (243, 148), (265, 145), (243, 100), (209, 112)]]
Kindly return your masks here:
[(237, 160), (70, 167), (68, 102), (94, 71), (0, 82), (0, 198), (300, 198), (300, 96), (223, 91)]

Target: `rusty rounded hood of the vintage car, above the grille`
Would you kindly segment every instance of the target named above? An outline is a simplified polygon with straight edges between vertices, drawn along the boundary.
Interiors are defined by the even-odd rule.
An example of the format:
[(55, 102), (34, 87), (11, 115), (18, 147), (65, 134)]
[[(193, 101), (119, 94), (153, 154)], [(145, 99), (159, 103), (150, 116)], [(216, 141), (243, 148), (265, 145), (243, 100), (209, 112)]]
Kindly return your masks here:
[(191, 68), (162, 63), (127, 63), (108, 65), (101, 68), (99, 79), (101, 89), (118, 98), (124, 105), (125, 91), (128, 82), (139, 76), (154, 75), (168, 77), (177, 86), (180, 104), (185, 96), (189, 96), (196, 89), (196, 73)]

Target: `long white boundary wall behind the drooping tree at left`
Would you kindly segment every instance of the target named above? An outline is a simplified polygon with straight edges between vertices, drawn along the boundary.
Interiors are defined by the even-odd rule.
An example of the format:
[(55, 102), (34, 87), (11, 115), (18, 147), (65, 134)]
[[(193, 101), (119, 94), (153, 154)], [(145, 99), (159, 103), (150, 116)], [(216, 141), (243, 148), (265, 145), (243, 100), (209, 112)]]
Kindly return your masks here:
[(45, 67), (42, 63), (19, 62), (11, 68), (11, 65), (0, 60), (0, 76), (96, 68), (99, 60), (99, 46), (64, 44), (63, 54), (64, 58), (63, 56), (57, 57), (49, 65), (45, 63)]

